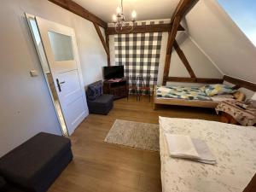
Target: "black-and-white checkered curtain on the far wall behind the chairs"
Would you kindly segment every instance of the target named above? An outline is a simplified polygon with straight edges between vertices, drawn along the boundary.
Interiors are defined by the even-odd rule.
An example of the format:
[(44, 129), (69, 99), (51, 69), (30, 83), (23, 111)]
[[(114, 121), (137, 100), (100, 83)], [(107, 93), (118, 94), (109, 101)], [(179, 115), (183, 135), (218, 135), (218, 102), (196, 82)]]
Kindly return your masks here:
[[(151, 76), (150, 85), (156, 84), (160, 60), (162, 32), (114, 35), (115, 65), (125, 66), (125, 77), (144, 81)], [(146, 83), (146, 82), (145, 82)], [(131, 81), (129, 81), (131, 84)], [(140, 78), (137, 82), (142, 86)]]

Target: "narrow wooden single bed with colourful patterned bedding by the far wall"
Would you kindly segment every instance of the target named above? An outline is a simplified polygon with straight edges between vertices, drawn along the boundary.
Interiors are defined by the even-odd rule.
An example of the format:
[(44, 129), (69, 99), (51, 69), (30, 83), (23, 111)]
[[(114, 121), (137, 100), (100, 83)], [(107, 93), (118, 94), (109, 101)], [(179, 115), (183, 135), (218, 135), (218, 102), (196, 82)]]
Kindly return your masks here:
[(201, 87), (158, 86), (154, 90), (154, 109), (158, 104), (215, 108), (218, 102), (230, 99), (231, 94), (207, 96)]

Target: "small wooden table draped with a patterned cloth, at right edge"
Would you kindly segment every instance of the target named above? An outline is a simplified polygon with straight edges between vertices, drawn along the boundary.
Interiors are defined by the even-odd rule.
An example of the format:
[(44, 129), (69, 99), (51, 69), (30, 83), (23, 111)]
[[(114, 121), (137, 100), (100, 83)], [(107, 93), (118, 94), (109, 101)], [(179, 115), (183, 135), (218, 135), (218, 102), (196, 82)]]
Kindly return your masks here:
[(230, 124), (240, 124), (243, 126), (253, 126), (256, 124), (256, 108), (241, 108), (236, 100), (220, 102), (215, 108), (216, 113), (221, 112), (220, 121)]

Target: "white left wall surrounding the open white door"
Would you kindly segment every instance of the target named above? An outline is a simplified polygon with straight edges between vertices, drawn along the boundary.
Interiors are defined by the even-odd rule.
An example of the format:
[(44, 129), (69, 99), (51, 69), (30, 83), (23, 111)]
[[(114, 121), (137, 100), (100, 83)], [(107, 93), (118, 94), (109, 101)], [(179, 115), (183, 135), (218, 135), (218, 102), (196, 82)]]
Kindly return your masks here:
[[(75, 29), (85, 85), (101, 79), (101, 67), (107, 65), (102, 43), (89, 21), (46, 0), (1, 1), (0, 156), (39, 131), (61, 135), (24, 12)], [(32, 69), (38, 77), (30, 76)]]

